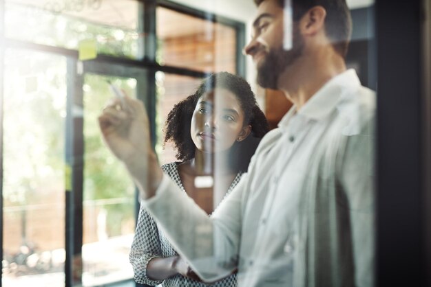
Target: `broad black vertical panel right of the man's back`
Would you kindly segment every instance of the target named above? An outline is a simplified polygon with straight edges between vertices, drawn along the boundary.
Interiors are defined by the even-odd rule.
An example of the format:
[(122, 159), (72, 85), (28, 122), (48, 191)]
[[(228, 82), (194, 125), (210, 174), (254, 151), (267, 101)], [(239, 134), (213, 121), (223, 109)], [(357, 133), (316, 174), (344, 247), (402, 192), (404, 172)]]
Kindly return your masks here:
[[(377, 284), (427, 286), (421, 0), (376, 1)], [(429, 126), (428, 126), (429, 127)], [(429, 147), (428, 147), (429, 148)], [(429, 165), (428, 165), (429, 166)], [(429, 172), (429, 171), (428, 171)], [(429, 187), (428, 187), (429, 189)], [(428, 202), (428, 208), (430, 207)], [(428, 227), (429, 230), (429, 227)], [(429, 275), (428, 275), (429, 276)]]

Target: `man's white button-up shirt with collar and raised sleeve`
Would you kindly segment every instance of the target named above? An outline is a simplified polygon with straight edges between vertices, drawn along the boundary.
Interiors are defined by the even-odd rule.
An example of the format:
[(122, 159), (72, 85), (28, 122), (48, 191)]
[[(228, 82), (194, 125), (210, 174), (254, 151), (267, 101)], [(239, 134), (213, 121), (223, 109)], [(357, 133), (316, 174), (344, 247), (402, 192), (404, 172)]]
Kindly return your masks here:
[(203, 279), (238, 266), (239, 286), (373, 286), (374, 116), (348, 70), (262, 139), (212, 218), (168, 176), (143, 204)]

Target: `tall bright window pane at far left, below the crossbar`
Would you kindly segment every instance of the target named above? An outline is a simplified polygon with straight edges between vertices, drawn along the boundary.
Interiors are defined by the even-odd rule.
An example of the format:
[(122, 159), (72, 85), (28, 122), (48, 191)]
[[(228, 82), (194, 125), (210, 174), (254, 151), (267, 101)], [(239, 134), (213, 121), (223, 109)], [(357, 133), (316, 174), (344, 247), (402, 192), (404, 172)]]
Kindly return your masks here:
[(66, 59), (5, 56), (3, 286), (64, 286)]

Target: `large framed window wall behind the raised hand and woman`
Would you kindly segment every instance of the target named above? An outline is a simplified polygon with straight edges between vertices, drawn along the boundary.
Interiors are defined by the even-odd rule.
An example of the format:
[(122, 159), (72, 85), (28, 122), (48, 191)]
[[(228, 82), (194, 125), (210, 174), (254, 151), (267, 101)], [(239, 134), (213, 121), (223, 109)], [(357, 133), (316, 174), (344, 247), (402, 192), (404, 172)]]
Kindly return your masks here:
[(136, 188), (97, 122), (109, 83), (145, 103), (160, 163), (174, 161), (167, 113), (209, 73), (244, 71), (245, 26), (169, 1), (0, 3), (1, 284), (132, 284)]

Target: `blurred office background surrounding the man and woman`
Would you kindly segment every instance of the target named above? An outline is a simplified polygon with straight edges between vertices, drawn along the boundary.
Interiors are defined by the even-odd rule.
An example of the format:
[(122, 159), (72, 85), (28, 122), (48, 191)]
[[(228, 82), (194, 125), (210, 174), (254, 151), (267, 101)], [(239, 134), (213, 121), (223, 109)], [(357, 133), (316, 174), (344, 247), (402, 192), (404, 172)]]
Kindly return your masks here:
[[(376, 286), (431, 286), (431, 1), (348, 0), (346, 63), (377, 92)], [(136, 286), (136, 187), (103, 145), (112, 82), (145, 103), (160, 163), (170, 109), (209, 74), (291, 107), (242, 47), (251, 0), (0, 0), (1, 286)]]

